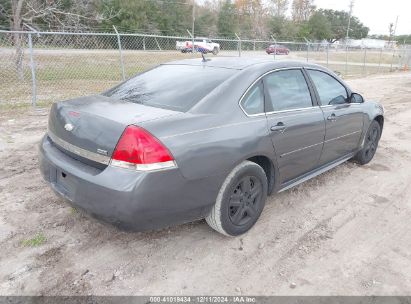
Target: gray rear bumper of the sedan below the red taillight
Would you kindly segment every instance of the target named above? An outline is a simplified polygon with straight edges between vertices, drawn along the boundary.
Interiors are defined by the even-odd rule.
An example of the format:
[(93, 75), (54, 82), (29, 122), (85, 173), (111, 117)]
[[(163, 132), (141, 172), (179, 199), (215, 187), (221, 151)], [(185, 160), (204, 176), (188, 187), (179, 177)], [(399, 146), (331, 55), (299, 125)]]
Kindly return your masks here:
[(177, 168), (96, 169), (61, 152), (47, 136), (40, 143), (39, 162), (43, 178), (59, 196), (125, 229), (152, 230), (204, 218), (219, 190), (219, 179), (187, 180)]

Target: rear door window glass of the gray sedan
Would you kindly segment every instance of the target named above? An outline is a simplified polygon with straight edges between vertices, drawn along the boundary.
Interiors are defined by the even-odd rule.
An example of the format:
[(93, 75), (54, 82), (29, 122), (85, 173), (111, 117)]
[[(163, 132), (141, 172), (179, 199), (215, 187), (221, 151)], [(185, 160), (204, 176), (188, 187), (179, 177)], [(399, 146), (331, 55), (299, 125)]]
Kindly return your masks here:
[[(311, 94), (301, 70), (284, 70), (264, 78), (271, 110), (283, 111), (312, 107)], [(269, 109), (270, 110), (270, 109)]]

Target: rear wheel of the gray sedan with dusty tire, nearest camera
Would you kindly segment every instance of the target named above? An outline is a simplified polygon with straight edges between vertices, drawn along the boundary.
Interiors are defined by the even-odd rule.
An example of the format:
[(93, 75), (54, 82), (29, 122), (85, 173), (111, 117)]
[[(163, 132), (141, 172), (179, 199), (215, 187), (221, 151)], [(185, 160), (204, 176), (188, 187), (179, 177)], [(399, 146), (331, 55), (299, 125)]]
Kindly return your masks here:
[(227, 236), (247, 232), (264, 209), (267, 189), (264, 169), (254, 162), (243, 161), (221, 186), (216, 203), (206, 217), (208, 225)]

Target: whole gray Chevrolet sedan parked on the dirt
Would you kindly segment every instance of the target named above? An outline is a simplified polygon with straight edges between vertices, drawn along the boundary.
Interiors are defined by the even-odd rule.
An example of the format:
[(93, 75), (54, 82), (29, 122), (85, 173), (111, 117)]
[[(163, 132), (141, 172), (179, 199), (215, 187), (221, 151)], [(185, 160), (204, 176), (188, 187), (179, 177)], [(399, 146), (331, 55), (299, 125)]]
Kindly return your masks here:
[(267, 195), (368, 163), (383, 125), (381, 105), (323, 67), (189, 59), (53, 104), (39, 158), (58, 195), (123, 228), (205, 218), (235, 236)]

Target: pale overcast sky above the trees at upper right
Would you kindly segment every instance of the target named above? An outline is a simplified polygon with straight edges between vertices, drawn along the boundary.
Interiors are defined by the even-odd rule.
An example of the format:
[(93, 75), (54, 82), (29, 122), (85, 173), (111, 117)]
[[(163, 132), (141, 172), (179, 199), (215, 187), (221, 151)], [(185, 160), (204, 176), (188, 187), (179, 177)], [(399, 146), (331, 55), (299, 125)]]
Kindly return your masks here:
[[(291, 2), (291, 1), (290, 1)], [(350, 0), (314, 0), (317, 8), (349, 10)], [(353, 15), (370, 28), (370, 35), (388, 35), (398, 16), (396, 35), (411, 34), (411, 0), (354, 0)]]

